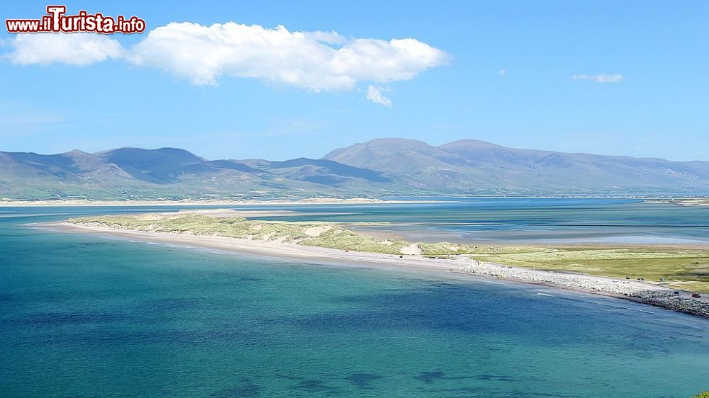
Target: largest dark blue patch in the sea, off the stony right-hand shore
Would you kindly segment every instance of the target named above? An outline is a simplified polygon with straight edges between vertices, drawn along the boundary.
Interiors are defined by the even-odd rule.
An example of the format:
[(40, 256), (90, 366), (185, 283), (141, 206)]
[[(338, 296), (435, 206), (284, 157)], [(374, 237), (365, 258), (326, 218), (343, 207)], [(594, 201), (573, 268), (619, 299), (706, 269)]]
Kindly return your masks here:
[[(630, 315), (652, 322), (652, 318), (657, 317), (654, 313), (663, 310), (652, 309), (653, 314), (644, 314), (630, 311), (644, 309), (644, 306), (625, 302), (620, 308), (605, 310), (596, 303), (607, 302), (604, 300), (613, 299), (568, 300), (564, 296), (535, 295), (527, 286), (491, 288), (487, 284), (439, 283), (429, 289), (341, 295), (335, 302), (347, 305), (346, 309), (275, 321), (323, 333), (429, 329), (475, 336), (507, 335), (514, 339), (527, 339), (534, 333), (535, 345), (573, 348), (602, 343), (605, 351), (627, 351), (628, 355), (642, 358), (661, 355), (666, 344), (677, 338), (670, 324), (657, 325), (666, 329), (665, 333), (658, 334), (654, 329), (646, 330), (641, 326), (643, 323), (628, 323), (626, 319)], [(608, 317), (611, 311), (618, 316)], [(564, 319), (564, 324), (559, 324), (558, 319)], [(603, 322), (598, 322), (601, 319)], [(618, 327), (615, 334), (625, 338), (608, 339), (614, 334), (609, 327)]]

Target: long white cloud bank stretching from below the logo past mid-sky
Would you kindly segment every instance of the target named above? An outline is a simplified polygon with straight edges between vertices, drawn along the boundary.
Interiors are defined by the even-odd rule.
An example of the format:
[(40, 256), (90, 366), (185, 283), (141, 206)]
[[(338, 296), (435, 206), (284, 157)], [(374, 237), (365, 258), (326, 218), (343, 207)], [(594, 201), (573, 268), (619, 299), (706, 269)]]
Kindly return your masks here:
[(77, 33), (18, 34), (12, 46), (7, 57), (17, 64), (86, 65), (120, 57), (196, 85), (214, 86), (220, 77), (233, 76), (311, 91), (409, 80), (450, 58), (413, 38), (345, 38), (334, 31), (291, 32), (282, 25), (264, 28), (234, 22), (169, 23), (129, 48), (106, 36)]

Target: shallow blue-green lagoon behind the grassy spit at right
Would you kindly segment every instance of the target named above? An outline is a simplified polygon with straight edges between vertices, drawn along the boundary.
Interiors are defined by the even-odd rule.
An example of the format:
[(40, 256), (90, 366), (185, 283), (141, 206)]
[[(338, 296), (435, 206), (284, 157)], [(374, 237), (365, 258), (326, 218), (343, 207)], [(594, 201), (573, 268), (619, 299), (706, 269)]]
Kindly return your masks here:
[(709, 245), (709, 206), (652, 204), (640, 199), (442, 199), (446, 202), (350, 207), (353, 214), (322, 219), (388, 221), (394, 225), (369, 229), (423, 241), (445, 237), (487, 244)]

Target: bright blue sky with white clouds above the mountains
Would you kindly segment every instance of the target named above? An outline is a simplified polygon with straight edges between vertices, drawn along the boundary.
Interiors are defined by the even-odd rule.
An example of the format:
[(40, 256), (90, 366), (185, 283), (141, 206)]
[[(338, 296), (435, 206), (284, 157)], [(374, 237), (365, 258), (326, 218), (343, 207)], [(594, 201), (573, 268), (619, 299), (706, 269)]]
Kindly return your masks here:
[(707, 1), (60, 4), (147, 29), (3, 26), (1, 151), (282, 160), (406, 137), (709, 160)]

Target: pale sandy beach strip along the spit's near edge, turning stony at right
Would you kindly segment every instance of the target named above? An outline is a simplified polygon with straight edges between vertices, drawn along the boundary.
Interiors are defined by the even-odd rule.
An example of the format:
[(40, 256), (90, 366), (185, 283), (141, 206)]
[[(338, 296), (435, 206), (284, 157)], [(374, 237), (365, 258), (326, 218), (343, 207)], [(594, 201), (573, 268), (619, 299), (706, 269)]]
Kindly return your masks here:
[[(439, 271), (482, 278), (500, 278), (519, 283), (544, 285), (552, 288), (586, 292), (615, 297), (633, 302), (663, 307), (677, 312), (709, 318), (709, 299), (693, 298), (689, 292), (652, 285), (639, 280), (621, 280), (579, 273), (536, 271), (528, 268), (505, 266), (498, 263), (476, 263), (468, 255), (453, 258), (428, 258), (420, 255), (379, 254), (364, 251), (344, 251), (318, 246), (304, 246), (275, 241), (259, 241), (208, 235), (170, 234), (166, 232), (143, 232), (132, 229), (95, 227), (69, 222), (31, 224), (61, 232), (108, 234), (124, 239), (178, 244), (202, 249), (217, 249), (236, 254), (267, 256), (296, 260), (311, 260), (321, 263), (359, 263), (374, 267), (402, 268), (408, 270)], [(674, 295), (675, 291), (679, 295)]]

